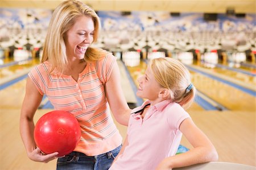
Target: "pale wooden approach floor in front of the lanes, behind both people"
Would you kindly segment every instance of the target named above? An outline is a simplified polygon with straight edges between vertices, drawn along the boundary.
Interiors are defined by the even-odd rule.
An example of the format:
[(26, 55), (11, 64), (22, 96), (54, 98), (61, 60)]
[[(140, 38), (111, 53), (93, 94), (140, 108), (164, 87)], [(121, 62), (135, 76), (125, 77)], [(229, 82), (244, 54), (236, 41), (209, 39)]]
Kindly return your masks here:
[[(35, 122), (50, 110), (38, 110)], [(5, 170), (51, 170), (56, 160), (47, 164), (28, 159), (19, 135), (19, 112), (17, 109), (1, 109), (0, 114), (0, 169)], [(246, 111), (191, 111), (191, 117), (212, 140), (219, 160), (255, 166), (255, 113)], [(116, 122), (115, 122), (116, 123)], [(124, 137), (127, 127), (116, 123)], [(183, 146), (191, 148), (184, 138)]]

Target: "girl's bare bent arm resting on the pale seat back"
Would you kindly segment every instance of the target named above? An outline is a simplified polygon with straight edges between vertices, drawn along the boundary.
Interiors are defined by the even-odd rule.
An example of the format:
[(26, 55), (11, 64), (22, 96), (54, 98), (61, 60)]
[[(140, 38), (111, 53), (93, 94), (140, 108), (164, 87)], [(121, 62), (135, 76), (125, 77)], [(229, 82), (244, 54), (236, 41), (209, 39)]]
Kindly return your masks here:
[(180, 125), (180, 131), (188, 139), (193, 148), (183, 154), (164, 159), (156, 169), (172, 169), (192, 164), (217, 161), (218, 154), (208, 137), (193, 123), (191, 118), (185, 119)]

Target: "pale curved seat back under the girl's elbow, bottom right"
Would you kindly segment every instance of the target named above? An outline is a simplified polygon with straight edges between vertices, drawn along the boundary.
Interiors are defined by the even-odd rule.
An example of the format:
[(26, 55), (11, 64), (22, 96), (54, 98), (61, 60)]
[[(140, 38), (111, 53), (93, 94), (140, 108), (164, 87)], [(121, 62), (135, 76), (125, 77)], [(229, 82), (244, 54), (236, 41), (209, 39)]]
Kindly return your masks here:
[(174, 168), (174, 170), (255, 170), (256, 167), (237, 164), (237, 163), (228, 163), (228, 162), (209, 162), (203, 164), (191, 165), (188, 167)]

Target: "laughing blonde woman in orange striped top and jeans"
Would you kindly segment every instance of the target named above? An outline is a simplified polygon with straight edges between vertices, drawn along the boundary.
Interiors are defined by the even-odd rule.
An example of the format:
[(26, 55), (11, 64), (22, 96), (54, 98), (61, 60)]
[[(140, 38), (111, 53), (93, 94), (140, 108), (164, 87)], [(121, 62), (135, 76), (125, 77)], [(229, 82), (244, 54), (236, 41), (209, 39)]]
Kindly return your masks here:
[(115, 57), (90, 47), (100, 27), (95, 11), (80, 1), (62, 2), (53, 12), (42, 63), (28, 74), (20, 115), (20, 135), (31, 160), (47, 163), (58, 154), (42, 154), (34, 141), (33, 117), (44, 94), (55, 110), (69, 111), (81, 126), (78, 146), (58, 158), (57, 169), (108, 169), (118, 154), (122, 138), (110, 109), (126, 126), (130, 109)]

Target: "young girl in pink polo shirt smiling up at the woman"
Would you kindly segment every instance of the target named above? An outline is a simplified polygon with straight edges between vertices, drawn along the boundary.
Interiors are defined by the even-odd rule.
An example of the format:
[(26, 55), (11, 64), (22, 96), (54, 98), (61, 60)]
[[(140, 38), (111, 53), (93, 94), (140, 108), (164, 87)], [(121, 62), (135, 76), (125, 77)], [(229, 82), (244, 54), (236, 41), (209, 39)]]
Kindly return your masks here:
[[(125, 142), (111, 170), (163, 170), (218, 159), (213, 144), (184, 110), (196, 89), (183, 64), (168, 57), (153, 59), (138, 82), (137, 96), (147, 101), (131, 111)], [(193, 148), (175, 155), (182, 134)]]

